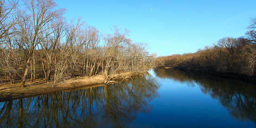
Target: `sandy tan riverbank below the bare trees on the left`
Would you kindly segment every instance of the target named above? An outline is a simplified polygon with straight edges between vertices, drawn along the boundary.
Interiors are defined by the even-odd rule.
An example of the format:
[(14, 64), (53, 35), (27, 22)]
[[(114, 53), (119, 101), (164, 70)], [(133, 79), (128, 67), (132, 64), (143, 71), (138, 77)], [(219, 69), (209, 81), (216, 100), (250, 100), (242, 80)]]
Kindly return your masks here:
[[(122, 79), (129, 78), (131, 76), (136, 76), (141, 74), (136, 74), (133, 72), (123, 72), (116, 73), (110, 76), (112, 82), (116, 82)], [(76, 87), (97, 87), (105, 85), (105, 79), (103, 75), (95, 75), (92, 77), (75, 77), (69, 80), (65, 80), (56, 84), (52, 87), (53, 81), (46, 82), (44, 79), (38, 79), (35, 82), (26, 82), (25, 87), (20, 87), (20, 82), (15, 84), (7, 83), (5, 85), (0, 85), (0, 102), (24, 98), (24, 97), (34, 97), (46, 93), (68, 90)]]

